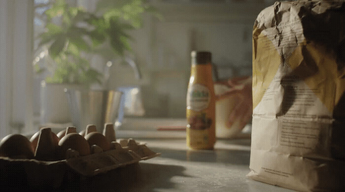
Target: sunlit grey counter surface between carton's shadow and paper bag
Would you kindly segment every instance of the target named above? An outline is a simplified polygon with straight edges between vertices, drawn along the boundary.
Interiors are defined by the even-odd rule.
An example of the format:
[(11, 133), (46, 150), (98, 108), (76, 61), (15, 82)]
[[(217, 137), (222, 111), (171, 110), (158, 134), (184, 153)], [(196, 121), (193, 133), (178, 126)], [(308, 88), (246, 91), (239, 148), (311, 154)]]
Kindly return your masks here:
[[(136, 139), (161, 157), (140, 161), (125, 191), (293, 192), (248, 179), (250, 139), (218, 140), (214, 150), (188, 150), (184, 139)], [(133, 176), (134, 175), (134, 176)]]

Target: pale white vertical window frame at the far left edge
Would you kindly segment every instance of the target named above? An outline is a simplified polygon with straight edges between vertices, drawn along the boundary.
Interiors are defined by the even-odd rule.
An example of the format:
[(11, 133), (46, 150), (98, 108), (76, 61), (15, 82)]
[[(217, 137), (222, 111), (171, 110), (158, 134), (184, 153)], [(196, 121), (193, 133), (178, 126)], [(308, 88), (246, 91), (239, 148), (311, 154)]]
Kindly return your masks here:
[(0, 1), (0, 138), (35, 131), (33, 0)]

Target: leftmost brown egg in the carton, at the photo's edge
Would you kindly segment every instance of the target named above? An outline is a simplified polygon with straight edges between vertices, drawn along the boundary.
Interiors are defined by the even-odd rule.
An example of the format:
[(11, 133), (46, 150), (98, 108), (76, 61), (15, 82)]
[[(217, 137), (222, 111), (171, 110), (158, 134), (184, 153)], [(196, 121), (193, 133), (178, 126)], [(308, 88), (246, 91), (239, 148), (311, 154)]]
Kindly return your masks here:
[(34, 159), (34, 148), (24, 135), (10, 134), (0, 141), (0, 157)]

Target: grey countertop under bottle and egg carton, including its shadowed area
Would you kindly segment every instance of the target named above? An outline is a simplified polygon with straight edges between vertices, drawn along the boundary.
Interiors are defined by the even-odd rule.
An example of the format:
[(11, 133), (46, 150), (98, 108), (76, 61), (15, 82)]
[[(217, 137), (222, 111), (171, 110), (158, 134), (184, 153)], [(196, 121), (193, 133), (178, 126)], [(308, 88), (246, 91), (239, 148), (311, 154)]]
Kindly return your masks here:
[[(33, 188), (25, 181), (23, 168), (12, 167), (16, 171), (0, 179), (0, 189), (32, 192), (292, 192), (246, 177), (250, 139), (218, 139), (213, 150), (189, 150), (185, 139), (135, 140), (146, 143), (161, 156), (92, 177), (68, 171), (59, 187), (53, 189), (50, 186), (54, 181), (44, 183), (45, 187)], [(27, 179), (31, 181), (31, 178)]]

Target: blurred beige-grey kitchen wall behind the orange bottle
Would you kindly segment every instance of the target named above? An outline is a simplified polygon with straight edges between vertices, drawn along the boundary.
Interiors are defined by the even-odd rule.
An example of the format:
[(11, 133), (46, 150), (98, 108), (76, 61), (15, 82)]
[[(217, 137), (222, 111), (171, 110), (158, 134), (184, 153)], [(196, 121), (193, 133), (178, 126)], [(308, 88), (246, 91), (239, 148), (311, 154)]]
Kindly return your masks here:
[(140, 85), (147, 115), (184, 117), (190, 71), (190, 52), (212, 52), (219, 76), (251, 74), (252, 28), (261, 1), (151, 0), (163, 21), (147, 17), (133, 32), (133, 47), (142, 81), (130, 67), (113, 68), (112, 86)]

